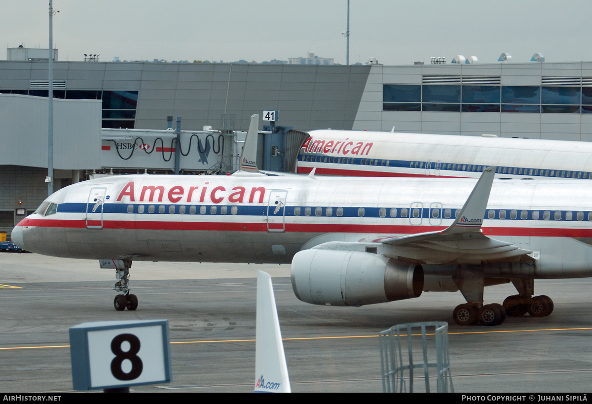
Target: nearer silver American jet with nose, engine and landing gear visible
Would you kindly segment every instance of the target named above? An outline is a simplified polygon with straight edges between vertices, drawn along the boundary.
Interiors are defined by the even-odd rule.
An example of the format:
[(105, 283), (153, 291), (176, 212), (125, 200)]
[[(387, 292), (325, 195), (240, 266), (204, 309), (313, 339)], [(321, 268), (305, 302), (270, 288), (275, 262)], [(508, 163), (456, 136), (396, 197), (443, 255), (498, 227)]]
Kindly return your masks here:
[[(462, 325), (549, 315), (553, 302), (535, 296), (535, 279), (592, 276), (592, 182), (494, 179), (494, 170), (478, 181), (102, 177), (54, 193), (12, 240), (115, 269), (117, 310), (137, 308), (131, 264), (150, 260), (291, 263), (295, 295), (317, 305), (460, 290), (466, 303), (453, 319)], [(484, 304), (485, 286), (507, 282), (516, 295)]]

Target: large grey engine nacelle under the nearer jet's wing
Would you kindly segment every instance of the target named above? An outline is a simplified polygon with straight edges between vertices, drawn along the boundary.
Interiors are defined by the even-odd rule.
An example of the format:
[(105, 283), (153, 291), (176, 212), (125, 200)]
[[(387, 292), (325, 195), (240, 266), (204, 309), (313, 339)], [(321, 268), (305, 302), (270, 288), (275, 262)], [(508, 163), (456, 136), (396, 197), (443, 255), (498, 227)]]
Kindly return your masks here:
[(296, 297), (314, 305), (372, 305), (417, 298), (423, 290), (420, 264), (360, 251), (300, 251), (291, 277)]

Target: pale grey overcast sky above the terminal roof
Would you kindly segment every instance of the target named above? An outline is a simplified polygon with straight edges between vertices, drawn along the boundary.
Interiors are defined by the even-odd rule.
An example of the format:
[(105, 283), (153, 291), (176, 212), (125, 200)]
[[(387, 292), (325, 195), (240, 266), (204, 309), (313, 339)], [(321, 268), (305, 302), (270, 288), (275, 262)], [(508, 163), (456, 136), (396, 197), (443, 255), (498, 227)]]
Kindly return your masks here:
[[(0, 0), (1, 38), (9, 47), (47, 48), (45, 0)], [(54, 0), (60, 60), (224, 60), (333, 57), (345, 64), (347, 0)], [(430, 62), (430, 56), (509, 53), (528, 62), (592, 60), (589, 0), (350, 0), (350, 63)], [(588, 28), (588, 29), (587, 29)]]

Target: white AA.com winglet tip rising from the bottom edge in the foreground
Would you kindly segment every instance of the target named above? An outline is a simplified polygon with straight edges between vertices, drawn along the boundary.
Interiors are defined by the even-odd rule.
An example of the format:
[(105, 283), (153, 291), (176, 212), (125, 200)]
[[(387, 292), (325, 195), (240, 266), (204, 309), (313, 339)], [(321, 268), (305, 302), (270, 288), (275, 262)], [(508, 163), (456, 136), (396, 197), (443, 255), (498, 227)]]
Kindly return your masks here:
[(255, 392), (290, 393), (274, 287), (271, 285), (271, 276), (263, 271), (257, 272), (255, 336)]

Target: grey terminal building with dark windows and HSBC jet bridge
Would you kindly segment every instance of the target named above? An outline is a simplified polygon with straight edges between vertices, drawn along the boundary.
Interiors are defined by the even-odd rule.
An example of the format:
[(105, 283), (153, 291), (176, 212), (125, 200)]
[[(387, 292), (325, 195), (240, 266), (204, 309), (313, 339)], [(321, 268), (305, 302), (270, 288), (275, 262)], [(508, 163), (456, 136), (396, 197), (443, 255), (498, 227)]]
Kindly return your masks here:
[[(53, 75), (54, 104), (62, 105), (54, 109), (54, 137), (61, 142), (54, 149), (63, 151), (54, 156), (56, 179), (61, 177), (56, 190), (92, 173), (172, 173), (166, 160), (174, 147), (170, 138), (156, 133), (136, 143), (136, 135), (119, 131), (163, 130), (167, 117), (182, 119), (182, 150), (191, 131), (201, 136), (191, 146), (197, 154), (184, 157), (185, 172), (191, 173), (211, 171), (218, 160), (236, 154), (232, 146), (222, 151), (220, 134), (246, 131), (250, 116), (264, 110), (279, 111), (278, 124), (304, 132), (394, 128), (410, 134), (592, 140), (592, 62), (340, 66), (56, 61)], [(20, 221), (17, 212), (36, 209), (47, 196), (47, 89), (47, 60), (0, 61), (0, 232), (9, 232)], [(204, 127), (214, 129), (210, 143)], [(153, 142), (159, 137), (162, 144)], [(202, 152), (208, 145), (213, 150), (207, 163), (195, 146), (199, 141)], [(145, 144), (160, 151), (126, 159), (129, 144), (140, 149), (134, 153), (147, 153)], [(36, 159), (31, 159), (33, 149)], [(189, 164), (192, 156), (200, 164)]]

